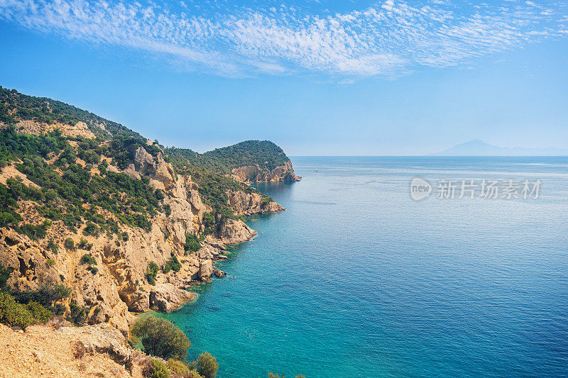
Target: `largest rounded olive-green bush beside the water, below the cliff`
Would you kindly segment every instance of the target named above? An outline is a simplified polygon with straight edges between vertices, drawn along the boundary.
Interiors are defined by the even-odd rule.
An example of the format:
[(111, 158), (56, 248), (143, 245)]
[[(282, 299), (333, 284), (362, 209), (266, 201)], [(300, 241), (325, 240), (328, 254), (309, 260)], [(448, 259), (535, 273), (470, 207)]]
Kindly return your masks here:
[(170, 321), (155, 316), (138, 319), (131, 329), (132, 335), (141, 340), (144, 351), (163, 359), (183, 360), (190, 348), (190, 340), (180, 328)]

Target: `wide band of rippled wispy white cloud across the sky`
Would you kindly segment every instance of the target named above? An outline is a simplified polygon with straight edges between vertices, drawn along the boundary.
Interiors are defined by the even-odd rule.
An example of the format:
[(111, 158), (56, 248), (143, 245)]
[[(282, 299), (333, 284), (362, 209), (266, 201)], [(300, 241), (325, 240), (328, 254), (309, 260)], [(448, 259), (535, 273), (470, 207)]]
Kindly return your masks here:
[(567, 19), (566, 6), (536, 1), (464, 6), (386, 0), (332, 15), (302, 12), (293, 4), (207, 12), (181, 1), (178, 8), (138, 1), (0, 0), (0, 18), (41, 33), (173, 58), (194, 70), (344, 78), (396, 76), (424, 65), (469, 67), (495, 52), (565, 38)]

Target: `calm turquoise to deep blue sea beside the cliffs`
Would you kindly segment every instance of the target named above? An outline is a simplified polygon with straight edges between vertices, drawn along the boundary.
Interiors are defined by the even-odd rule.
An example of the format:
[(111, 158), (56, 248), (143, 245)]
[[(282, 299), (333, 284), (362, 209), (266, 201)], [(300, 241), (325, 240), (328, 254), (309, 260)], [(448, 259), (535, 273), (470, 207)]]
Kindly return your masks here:
[[(258, 185), (229, 277), (167, 315), (218, 377), (568, 375), (568, 159), (297, 157)], [(317, 165), (319, 172), (314, 172)], [(410, 199), (410, 180), (541, 179), (539, 199)], [(235, 278), (233, 278), (235, 277)]]

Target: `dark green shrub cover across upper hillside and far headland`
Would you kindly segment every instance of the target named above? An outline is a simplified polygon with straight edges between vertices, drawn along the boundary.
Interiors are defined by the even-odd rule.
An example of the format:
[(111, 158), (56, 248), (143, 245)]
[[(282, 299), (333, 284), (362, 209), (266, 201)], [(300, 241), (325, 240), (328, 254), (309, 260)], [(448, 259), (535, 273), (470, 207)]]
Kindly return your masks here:
[[(21, 120), (70, 125), (83, 121), (97, 138), (65, 137), (57, 129), (44, 135), (26, 135), (11, 127)], [(148, 187), (148, 179), (136, 180), (126, 174), (108, 172), (108, 163), (102, 156), (110, 157), (111, 164), (119, 169), (126, 169), (140, 147), (154, 157), (163, 152), (177, 174), (190, 174), (199, 184), (202, 200), (212, 209), (205, 217), (207, 233), (213, 233), (226, 218), (239, 218), (229, 207), (227, 191), (257, 192), (227, 177), (231, 169), (244, 165), (273, 169), (288, 161), (282, 149), (266, 140), (249, 140), (204, 154), (179, 148), (162, 149), (157, 143), (148, 144), (145, 138), (119, 123), (89, 111), (2, 87), (0, 121), (8, 125), (0, 135), (0, 169), (13, 162), (18, 171), (40, 187), (33, 189), (13, 179), (6, 185), (0, 184), (3, 205), (0, 227), (11, 227), (33, 239), (45, 237), (50, 224), (21, 224), (18, 201), (35, 202), (41, 216), (63, 221), (72, 231), (85, 224), (87, 235), (118, 233), (119, 223), (148, 230), (150, 218), (157, 211), (170, 213), (168, 206), (160, 205), (162, 194)], [(101, 123), (112, 135), (97, 126)], [(102, 216), (103, 211), (114, 217)]]

